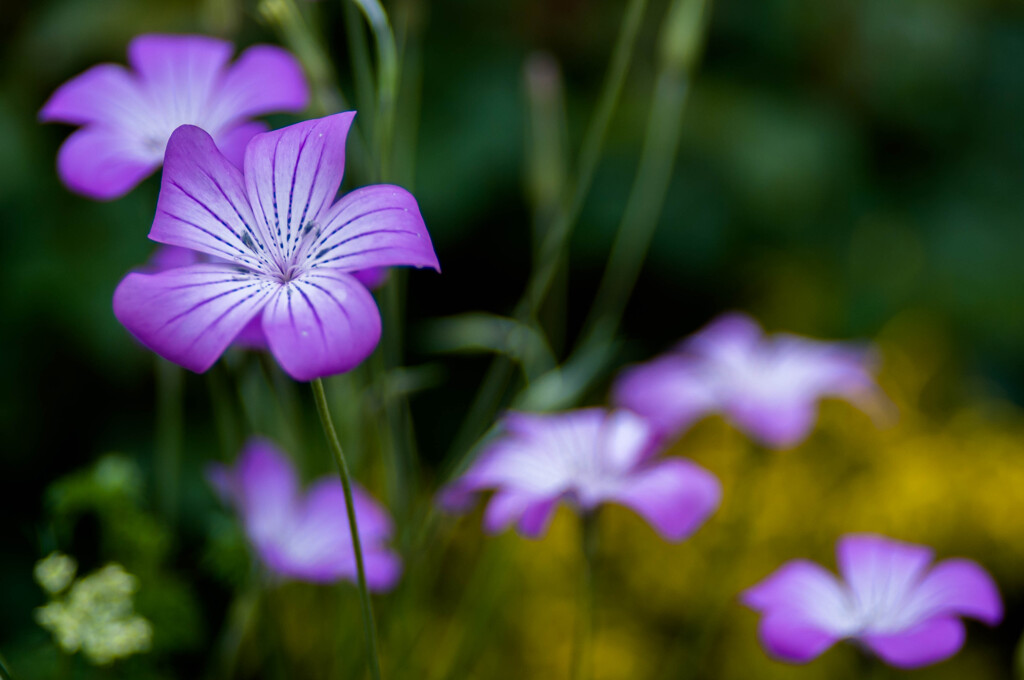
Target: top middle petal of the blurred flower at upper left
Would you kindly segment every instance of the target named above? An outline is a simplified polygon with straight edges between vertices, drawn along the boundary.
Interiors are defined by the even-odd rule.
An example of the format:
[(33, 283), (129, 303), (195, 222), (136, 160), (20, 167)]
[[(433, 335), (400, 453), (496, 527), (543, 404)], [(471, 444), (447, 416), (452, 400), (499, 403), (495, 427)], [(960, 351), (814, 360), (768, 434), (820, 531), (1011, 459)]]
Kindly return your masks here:
[(128, 45), (128, 61), (167, 122), (199, 123), (233, 51), (207, 36), (148, 34)]

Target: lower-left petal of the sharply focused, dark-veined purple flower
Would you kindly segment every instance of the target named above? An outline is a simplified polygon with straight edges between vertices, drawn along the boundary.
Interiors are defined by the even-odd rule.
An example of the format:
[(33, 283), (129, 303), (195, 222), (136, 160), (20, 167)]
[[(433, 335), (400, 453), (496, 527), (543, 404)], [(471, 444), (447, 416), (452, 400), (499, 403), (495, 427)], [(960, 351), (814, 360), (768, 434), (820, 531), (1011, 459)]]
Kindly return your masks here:
[(153, 351), (202, 373), (276, 288), (227, 264), (130, 273), (114, 292), (114, 314)]

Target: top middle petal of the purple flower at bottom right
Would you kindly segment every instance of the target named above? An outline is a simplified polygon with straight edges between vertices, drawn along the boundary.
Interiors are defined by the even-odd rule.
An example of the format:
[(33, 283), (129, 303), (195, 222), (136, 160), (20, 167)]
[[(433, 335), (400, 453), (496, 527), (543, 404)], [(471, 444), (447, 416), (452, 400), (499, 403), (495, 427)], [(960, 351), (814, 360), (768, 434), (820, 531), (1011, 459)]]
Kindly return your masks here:
[(903, 610), (933, 556), (925, 546), (873, 534), (844, 536), (836, 554), (840, 573), (861, 610), (894, 615)]

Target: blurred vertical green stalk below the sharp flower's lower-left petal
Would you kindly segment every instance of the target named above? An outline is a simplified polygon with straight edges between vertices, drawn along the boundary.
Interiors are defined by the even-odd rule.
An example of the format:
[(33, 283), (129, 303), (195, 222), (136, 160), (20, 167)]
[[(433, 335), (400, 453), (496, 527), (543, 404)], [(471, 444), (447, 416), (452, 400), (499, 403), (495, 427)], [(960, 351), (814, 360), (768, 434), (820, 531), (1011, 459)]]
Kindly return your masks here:
[(161, 513), (173, 526), (181, 472), (181, 410), (184, 376), (180, 367), (157, 357), (157, 488)]

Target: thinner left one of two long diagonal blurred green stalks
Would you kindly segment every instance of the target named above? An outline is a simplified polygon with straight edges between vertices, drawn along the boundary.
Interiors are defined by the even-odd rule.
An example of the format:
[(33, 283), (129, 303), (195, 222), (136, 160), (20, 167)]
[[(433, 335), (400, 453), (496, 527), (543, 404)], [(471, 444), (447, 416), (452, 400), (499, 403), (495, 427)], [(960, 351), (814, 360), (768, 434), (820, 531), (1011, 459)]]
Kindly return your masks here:
[[(604, 139), (607, 136), (608, 126), (617, 107), (623, 85), (626, 82), (626, 75), (633, 59), (634, 47), (646, 7), (647, 0), (630, 0), (630, 4), (626, 8), (622, 30), (611, 55), (611, 62), (601, 86), (597, 111), (591, 119), (580, 148), (577, 179), (567, 184), (566, 190), (569, 190), (569, 195), (561, 202), (562, 207), (558, 215), (552, 221), (550, 230), (540, 244), (534, 271), (526, 284), (526, 291), (516, 306), (516, 318), (524, 321), (535, 318), (537, 310), (543, 304), (544, 297), (555, 279), (558, 263), (561, 261), (561, 253), (568, 242), (572, 224), (575, 222), (584, 200), (590, 190), (594, 171), (597, 168)], [(455, 459), (455, 462), (447, 467), (451, 474), (458, 474), (465, 467), (470, 447), (482, 432), (484, 424), (494, 418), (501, 405), (505, 386), (512, 371), (512, 365), (505, 356), (497, 357), (492, 362), (486, 377), (473, 399), (469, 415), (463, 421), (455, 443), (446, 457), (449, 460)]]

